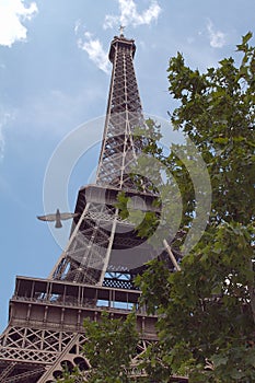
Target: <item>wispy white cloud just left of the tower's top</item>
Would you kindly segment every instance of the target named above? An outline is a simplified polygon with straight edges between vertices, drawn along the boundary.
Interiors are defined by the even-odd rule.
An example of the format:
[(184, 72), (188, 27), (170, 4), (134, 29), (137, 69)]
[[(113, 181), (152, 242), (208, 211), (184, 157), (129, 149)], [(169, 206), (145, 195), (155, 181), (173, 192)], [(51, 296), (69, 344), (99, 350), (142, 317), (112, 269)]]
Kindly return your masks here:
[[(81, 24), (80, 21), (76, 23), (74, 32), (78, 35)], [(104, 50), (102, 43), (98, 38), (93, 38), (90, 32), (84, 32), (83, 35), (78, 39), (78, 47), (85, 50), (90, 59), (105, 73), (109, 73), (109, 61), (108, 55)]]

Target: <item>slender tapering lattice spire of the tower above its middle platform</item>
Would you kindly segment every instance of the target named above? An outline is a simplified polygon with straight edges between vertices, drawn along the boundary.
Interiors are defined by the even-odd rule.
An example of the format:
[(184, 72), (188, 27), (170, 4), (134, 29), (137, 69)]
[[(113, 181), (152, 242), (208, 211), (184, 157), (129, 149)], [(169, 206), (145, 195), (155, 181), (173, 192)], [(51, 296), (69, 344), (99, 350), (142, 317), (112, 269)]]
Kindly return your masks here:
[(112, 42), (113, 72), (96, 177), (100, 186), (137, 190), (130, 169), (143, 146), (143, 140), (135, 136), (135, 129), (144, 127), (144, 120), (132, 63), (135, 51), (132, 39), (115, 37)]

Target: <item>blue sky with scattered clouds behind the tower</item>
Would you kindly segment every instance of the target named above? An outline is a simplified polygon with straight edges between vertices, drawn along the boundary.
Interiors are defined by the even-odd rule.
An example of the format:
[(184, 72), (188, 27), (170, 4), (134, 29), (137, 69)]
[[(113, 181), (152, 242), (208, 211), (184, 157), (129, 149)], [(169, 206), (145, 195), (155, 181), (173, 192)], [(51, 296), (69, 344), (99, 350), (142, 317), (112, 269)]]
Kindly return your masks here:
[[(47, 277), (61, 253), (36, 219), (44, 213), (47, 163), (66, 135), (104, 115), (107, 50), (118, 26), (136, 39), (143, 111), (167, 118), (174, 107), (169, 58), (179, 50), (202, 71), (235, 55), (254, 23), (254, 0), (0, 0), (0, 329), (15, 276)], [(101, 137), (103, 123), (93, 129)], [(90, 149), (90, 160), (81, 159), (71, 174), (70, 210), (96, 167), (97, 151), (98, 144)]]

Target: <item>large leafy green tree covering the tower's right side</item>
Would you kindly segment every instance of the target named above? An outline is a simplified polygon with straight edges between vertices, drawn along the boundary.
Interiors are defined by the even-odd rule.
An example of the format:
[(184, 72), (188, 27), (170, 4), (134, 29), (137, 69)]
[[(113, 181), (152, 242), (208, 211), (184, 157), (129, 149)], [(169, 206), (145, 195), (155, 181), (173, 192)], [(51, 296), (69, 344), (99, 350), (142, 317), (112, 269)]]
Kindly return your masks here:
[[(171, 116), (196, 144), (210, 174), (211, 212), (199, 243), (181, 271), (154, 260), (139, 278), (149, 312), (160, 314), (160, 341), (148, 350), (149, 374), (169, 382), (255, 382), (255, 48), (246, 34), (240, 65), (225, 58), (205, 73), (170, 60), (170, 92), (179, 101)], [(153, 154), (153, 151), (151, 151)], [(192, 181), (176, 150), (161, 160), (183, 194), (183, 228), (196, 208)], [(183, 239), (185, 240), (185, 237)], [(158, 376), (158, 378), (157, 378)], [(158, 380), (157, 380), (158, 379)]]

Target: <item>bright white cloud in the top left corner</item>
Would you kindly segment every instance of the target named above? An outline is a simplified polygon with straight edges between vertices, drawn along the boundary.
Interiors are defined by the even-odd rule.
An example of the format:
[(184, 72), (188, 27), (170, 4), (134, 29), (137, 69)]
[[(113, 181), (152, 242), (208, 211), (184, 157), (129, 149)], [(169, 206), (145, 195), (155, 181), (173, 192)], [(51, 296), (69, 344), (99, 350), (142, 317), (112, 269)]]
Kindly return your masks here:
[(25, 7), (24, 0), (0, 0), (0, 45), (11, 47), (15, 42), (25, 40), (27, 28), (23, 22), (37, 12), (35, 2)]

